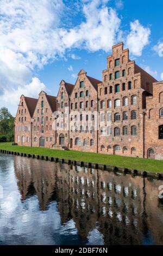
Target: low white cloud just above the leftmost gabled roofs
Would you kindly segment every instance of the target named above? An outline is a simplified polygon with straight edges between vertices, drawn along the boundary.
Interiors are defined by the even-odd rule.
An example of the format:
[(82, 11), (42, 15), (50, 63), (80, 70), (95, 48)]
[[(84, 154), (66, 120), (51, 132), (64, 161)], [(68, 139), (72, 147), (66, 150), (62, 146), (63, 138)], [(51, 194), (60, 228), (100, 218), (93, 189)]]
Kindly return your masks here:
[(1, 99), (4, 102), (12, 102), (13, 105), (16, 105), (20, 101), (20, 96), (22, 94), (24, 96), (37, 98), (41, 90), (46, 90), (45, 84), (41, 83), (39, 78), (33, 77), (31, 83), (24, 86), (18, 86), (16, 89), (10, 88), (10, 92), (8, 88), (5, 88)]

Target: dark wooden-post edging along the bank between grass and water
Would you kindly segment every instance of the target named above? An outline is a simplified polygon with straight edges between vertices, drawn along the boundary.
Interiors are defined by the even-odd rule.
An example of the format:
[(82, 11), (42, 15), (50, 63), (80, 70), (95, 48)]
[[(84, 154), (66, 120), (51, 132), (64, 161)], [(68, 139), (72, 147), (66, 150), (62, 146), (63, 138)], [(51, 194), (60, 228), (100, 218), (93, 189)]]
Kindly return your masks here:
[(163, 173), (149, 172), (148, 170), (137, 170), (137, 169), (131, 169), (131, 168), (118, 167), (118, 166), (110, 166), (108, 164), (102, 164), (102, 163), (76, 161), (71, 159), (60, 159), (58, 157), (20, 153), (16, 151), (5, 150), (5, 149), (0, 149), (0, 153), (15, 155), (15, 156), (22, 156), (22, 157), (32, 157), (33, 159), (37, 159), (37, 160), (61, 162), (61, 163), (72, 164), (74, 166), (80, 166), (80, 167), (108, 170), (114, 173), (131, 174), (134, 176), (139, 175), (143, 177), (149, 176), (155, 179), (163, 179)]

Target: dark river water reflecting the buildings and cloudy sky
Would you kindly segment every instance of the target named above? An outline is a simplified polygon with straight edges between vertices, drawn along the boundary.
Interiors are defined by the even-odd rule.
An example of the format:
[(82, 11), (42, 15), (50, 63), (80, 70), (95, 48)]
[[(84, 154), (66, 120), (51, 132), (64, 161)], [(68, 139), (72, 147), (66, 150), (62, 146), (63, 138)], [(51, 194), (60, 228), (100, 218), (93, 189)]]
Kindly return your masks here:
[(0, 154), (0, 185), (1, 245), (163, 244), (163, 181)]

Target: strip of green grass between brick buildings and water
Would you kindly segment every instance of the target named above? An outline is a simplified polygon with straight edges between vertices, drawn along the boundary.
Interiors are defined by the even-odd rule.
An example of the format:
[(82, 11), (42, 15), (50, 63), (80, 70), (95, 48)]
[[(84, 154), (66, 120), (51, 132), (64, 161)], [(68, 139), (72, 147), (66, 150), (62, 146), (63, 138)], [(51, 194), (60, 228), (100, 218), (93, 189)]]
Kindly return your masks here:
[(142, 159), (137, 157), (126, 157), (116, 155), (104, 155), (87, 153), (73, 150), (57, 150), (46, 148), (30, 148), (22, 146), (12, 146), (11, 143), (0, 143), (0, 149), (28, 153), (34, 155), (53, 156), (63, 159), (70, 159), (83, 162), (95, 162), (109, 164), (111, 166), (126, 167), (137, 170), (147, 170), (149, 172), (163, 173), (163, 160)]

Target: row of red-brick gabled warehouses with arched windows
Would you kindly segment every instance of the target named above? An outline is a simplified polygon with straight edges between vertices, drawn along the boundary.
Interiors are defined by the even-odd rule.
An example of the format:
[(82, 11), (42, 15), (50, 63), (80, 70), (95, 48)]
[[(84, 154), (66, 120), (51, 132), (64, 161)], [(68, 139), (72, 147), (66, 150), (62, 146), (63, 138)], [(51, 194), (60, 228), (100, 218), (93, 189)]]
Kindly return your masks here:
[[(74, 86), (61, 81), (57, 97), (41, 92), (39, 100), (22, 95), (21, 102), (17, 144), (163, 158), (163, 82), (131, 61), (123, 43), (112, 47), (102, 81), (80, 70)], [(26, 139), (22, 126), (30, 127)]]

